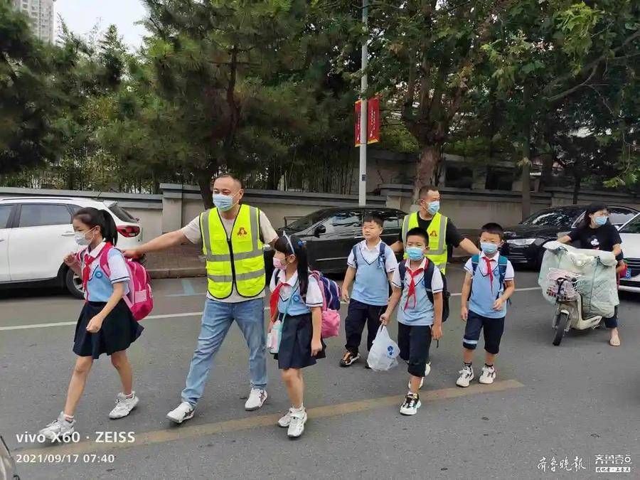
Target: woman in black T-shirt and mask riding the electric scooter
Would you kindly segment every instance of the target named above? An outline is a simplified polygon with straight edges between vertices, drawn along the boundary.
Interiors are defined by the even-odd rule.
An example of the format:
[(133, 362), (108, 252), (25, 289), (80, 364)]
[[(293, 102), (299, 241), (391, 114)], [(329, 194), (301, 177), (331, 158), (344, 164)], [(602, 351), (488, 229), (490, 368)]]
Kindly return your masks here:
[[(613, 252), (619, 262), (616, 272), (624, 268), (622, 262), (622, 239), (611, 223), (609, 223), (609, 210), (600, 203), (592, 203), (585, 212), (585, 218), (580, 225), (571, 230), (568, 235), (558, 239), (560, 243), (569, 243), (580, 240), (580, 247), (592, 250), (605, 250)], [(620, 346), (618, 334), (618, 307), (616, 306), (612, 317), (604, 320), (604, 326), (611, 330), (609, 344)]]

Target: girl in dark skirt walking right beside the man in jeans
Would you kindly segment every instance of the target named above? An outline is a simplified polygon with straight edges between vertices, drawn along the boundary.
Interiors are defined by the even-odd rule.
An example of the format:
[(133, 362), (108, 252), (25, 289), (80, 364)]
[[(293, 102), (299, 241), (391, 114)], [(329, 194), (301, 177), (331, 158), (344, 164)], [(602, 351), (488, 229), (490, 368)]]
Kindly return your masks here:
[(277, 319), (282, 321), (282, 338), (274, 358), (282, 370), (292, 405), (278, 425), (288, 428), (289, 438), (297, 438), (304, 432), (306, 422), (302, 368), (325, 357), (320, 337), (322, 293), (316, 280), (309, 276), (306, 248), (301, 240), (284, 234), (275, 242), (274, 250), (269, 331)]

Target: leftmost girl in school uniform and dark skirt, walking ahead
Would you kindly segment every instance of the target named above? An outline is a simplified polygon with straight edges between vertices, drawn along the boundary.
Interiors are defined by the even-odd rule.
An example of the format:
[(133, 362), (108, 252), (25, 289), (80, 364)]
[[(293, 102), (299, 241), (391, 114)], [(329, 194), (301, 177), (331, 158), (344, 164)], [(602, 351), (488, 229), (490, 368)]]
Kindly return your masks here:
[[(112, 248), (117, 242), (117, 230), (106, 210), (80, 208), (73, 215), (73, 230), (78, 245), (86, 246), (79, 253), (69, 254), (64, 261), (82, 277), (85, 304), (75, 326), (73, 353), (78, 358), (71, 375), (65, 407), (58, 418), (40, 431), (48, 439), (63, 439), (75, 431), (75, 408), (85, 389), (93, 361), (106, 353), (122, 381), (112, 419), (129, 415), (139, 399), (132, 390), (133, 373), (127, 358), (127, 348), (142, 333), (142, 326), (133, 318), (122, 297), (129, 293), (129, 270), (122, 252)], [(100, 257), (107, 255), (110, 275), (100, 266)], [(104, 261), (103, 261), (104, 263)]]

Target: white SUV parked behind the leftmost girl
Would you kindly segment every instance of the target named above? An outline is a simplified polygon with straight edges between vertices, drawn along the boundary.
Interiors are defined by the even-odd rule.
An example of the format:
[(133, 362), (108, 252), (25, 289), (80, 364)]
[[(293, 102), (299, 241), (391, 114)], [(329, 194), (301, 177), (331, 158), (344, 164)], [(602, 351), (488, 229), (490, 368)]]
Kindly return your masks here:
[(0, 284), (47, 282), (82, 298), (82, 282), (63, 263), (77, 252), (71, 217), (84, 207), (108, 210), (118, 230), (117, 247), (142, 243), (136, 218), (114, 201), (90, 198), (0, 198)]

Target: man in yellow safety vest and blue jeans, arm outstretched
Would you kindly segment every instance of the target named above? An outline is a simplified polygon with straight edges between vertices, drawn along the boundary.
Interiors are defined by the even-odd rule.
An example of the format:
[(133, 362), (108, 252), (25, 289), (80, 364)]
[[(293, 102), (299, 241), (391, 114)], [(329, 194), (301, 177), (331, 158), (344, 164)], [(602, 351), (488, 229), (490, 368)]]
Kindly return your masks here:
[(198, 346), (182, 391), (182, 402), (166, 416), (182, 423), (193, 417), (201, 398), (213, 356), (235, 320), (249, 346), (251, 391), (246, 410), (257, 410), (267, 400), (265, 350), (265, 260), (262, 246), (273, 244), (277, 233), (261, 210), (240, 204), (242, 183), (230, 175), (212, 182), (214, 208), (186, 227), (124, 252), (135, 257), (181, 245), (202, 242), (206, 257), (207, 299), (202, 314)]

